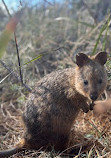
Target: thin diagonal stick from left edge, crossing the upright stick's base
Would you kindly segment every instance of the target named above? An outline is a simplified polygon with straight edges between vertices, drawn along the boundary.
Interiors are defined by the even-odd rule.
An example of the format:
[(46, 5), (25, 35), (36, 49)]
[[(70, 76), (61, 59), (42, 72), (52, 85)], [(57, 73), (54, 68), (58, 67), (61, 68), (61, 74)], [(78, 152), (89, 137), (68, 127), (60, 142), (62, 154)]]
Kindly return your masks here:
[[(0, 60), (0, 64), (7, 69), (19, 82), (21, 82), (20, 77), (14, 72), (12, 71), (3, 61)], [(31, 88), (29, 88), (25, 83), (22, 84), (29, 92), (31, 92)]]

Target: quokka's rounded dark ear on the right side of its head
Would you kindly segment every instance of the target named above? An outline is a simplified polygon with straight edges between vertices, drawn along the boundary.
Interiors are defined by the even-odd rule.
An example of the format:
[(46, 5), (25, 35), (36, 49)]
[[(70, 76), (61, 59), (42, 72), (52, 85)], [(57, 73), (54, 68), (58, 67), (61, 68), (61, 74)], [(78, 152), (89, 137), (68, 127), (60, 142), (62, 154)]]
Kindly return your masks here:
[(104, 65), (107, 61), (107, 53), (106, 52), (100, 52), (95, 56), (95, 60), (100, 63), (101, 65)]

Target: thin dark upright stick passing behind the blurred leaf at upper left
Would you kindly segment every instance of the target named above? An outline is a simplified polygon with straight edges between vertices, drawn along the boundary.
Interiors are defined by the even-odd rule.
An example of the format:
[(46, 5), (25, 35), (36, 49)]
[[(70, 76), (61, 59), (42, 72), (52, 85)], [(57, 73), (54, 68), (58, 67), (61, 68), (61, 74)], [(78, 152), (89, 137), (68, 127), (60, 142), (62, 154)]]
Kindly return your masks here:
[[(2, 3), (4, 4), (5, 9), (6, 9), (8, 15), (9, 15), (9, 17), (11, 18), (11, 14), (10, 14), (10, 12), (9, 12), (9, 9), (8, 9), (8, 7), (7, 7), (6, 3), (5, 3), (5, 1), (2, 0)], [(17, 44), (17, 38), (16, 38), (16, 33), (15, 33), (15, 32), (14, 32), (14, 40), (15, 40), (15, 46), (16, 46), (16, 52), (17, 52), (17, 58), (18, 58), (18, 64), (19, 64), (20, 80), (21, 80), (21, 83), (22, 83), (22, 85), (23, 85), (24, 83), (23, 83), (23, 77), (22, 77), (22, 71), (21, 71), (21, 64), (20, 64), (20, 57), (19, 57), (19, 51), (18, 51), (18, 44)]]

